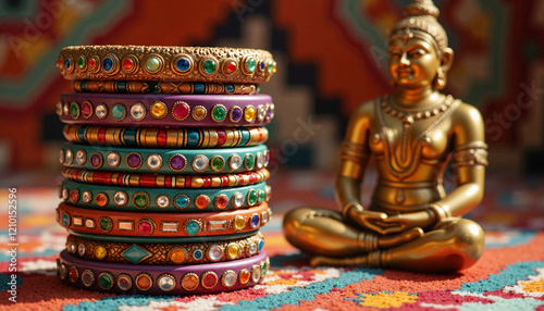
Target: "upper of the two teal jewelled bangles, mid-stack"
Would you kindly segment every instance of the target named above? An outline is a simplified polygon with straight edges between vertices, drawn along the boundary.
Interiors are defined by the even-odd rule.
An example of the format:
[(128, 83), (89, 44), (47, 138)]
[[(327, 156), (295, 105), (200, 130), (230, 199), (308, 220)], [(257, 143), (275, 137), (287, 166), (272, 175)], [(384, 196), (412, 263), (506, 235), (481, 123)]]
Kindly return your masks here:
[(66, 144), (59, 161), (67, 167), (135, 173), (219, 174), (267, 167), (265, 145), (222, 149), (149, 149)]

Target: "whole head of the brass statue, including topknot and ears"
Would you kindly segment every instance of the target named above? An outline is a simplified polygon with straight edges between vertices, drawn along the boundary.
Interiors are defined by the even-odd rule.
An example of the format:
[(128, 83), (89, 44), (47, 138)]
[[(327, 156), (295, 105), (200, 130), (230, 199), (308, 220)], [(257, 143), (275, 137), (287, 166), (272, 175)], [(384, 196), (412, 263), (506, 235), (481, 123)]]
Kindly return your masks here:
[(400, 87), (425, 84), (442, 89), (452, 66), (454, 51), (436, 17), (440, 11), (431, 0), (412, 0), (403, 20), (388, 38), (390, 72)]

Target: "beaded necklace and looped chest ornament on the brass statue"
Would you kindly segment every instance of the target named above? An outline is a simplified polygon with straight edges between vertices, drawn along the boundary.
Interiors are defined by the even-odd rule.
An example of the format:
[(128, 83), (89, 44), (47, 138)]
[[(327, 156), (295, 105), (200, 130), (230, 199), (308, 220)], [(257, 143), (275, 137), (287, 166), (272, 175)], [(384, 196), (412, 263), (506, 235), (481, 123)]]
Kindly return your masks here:
[[(383, 140), (385, 144), (383, 149), (384, 161), (393, 176), (398, 179), (405, 179), (417, 171), (421, 161), (423, 147), (431, 144), (431, 138), (428, 134), (450, 116), (459, 103), (459, 100), (454, 99), (449, 95), (444, 100), (425, 109), (400, 108), (393, 102), (392, 97), (376, 100), (375, 114), (379, 121), (379, 132), (374, 135), (373, 139)], [(395, 135), (393, 129), (387, 126), (384, 114), (390, 114), (403, 121), (399, 152), (395, 152)], [(417, 121), (431, 117), (435, 120), (424, 126), (419, 133), (412, 134), (411, 127)], [(410, 139), (410, 136), (413, 138)]]

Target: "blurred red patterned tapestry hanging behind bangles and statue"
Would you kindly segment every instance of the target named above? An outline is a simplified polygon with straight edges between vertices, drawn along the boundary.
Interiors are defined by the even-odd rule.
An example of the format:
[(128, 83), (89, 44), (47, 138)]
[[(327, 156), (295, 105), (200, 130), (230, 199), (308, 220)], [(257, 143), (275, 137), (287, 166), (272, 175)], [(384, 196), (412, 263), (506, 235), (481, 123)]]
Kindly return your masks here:
[[(54, 107), (71, 87), (54, 61), (107, 43), (272, 51), (275, 167), (334, 170), (349, 113), (393, 90), (386, 30), (408, 2), (0, 0), (0, 172), (60, 171)], [(435, 2), (455, 50), (446, 92), (482, 111), (490, 170), (544, 173), (544, 1)]]

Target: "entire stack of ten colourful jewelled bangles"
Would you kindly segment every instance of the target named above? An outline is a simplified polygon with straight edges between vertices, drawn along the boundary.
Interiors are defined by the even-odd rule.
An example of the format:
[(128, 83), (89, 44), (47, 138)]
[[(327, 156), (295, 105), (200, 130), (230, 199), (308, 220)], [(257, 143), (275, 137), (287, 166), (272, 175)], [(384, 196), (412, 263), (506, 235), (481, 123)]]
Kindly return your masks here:
[(64, 48), (73, 80), (58, 260), (74, 287), (150, 295), (206, 294), (261, 282), (270, 260), (259, 229), (272, 211), (263, 125), (274, 103), (259, 84), (276, 71), (262, 50)]

